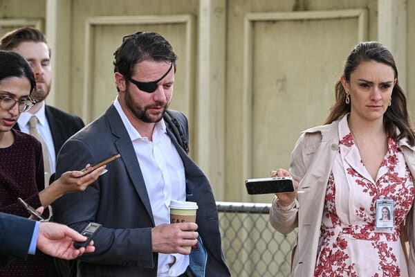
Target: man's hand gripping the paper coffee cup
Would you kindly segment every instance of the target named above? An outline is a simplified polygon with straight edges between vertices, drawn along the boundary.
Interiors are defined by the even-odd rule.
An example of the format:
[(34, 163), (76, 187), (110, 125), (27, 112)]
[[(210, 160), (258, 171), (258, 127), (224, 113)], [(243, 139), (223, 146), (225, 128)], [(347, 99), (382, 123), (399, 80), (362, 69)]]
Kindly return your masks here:
[(190, 250), (183, 247), (192, 247), (197, 243), (199, 233), (196, 223), (181, 222), (161, 224), (151, 229), (151, 244), (153, 251), (158, 253), (179, 253), (189, 255)]

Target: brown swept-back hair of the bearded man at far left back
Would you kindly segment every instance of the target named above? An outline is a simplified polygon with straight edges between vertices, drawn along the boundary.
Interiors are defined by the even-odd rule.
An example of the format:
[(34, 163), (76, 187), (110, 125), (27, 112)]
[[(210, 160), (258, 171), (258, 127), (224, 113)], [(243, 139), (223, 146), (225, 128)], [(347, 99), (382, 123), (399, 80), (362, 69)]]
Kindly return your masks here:
[(23, 27), (3, 35), (0, 40), (0, 49), (11, 51), (22, 42), (44, 42), (46, 45), (48, 44), (45, 35), (41, 31), (32, 27)]

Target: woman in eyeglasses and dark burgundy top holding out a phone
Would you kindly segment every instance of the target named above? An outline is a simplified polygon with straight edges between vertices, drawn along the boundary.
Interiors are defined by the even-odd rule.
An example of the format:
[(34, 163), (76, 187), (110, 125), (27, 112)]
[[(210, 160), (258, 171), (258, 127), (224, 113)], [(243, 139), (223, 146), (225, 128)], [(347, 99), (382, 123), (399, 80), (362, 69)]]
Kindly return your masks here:
[[(18, 197), (30, 206), (47, 207), (65, 193), (84, 190), (104, 170), (101, 167), (85, 176), (80, 171), (65, 172), (44, 188), (41, 143), (12, 129), (21, 112), (33, 106), (30, 92), (35, 84), (32, 69), (24, 57), (0, 51), (0, 212), (22, 217), (29, 214), (17, 201)], [(47, 209), (45, 213), (48, 217)], [(0, 276), (57, 276), (57, 273), (52, 258), (38, 252), (26, 261), (15, 260), (3, 267)]]

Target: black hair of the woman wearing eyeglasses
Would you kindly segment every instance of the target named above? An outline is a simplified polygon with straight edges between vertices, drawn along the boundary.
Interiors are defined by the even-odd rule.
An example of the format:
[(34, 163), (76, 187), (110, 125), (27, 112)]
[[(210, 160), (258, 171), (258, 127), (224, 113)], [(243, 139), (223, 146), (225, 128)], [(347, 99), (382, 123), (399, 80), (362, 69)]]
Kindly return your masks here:
[(35, 75), (25, 58), (15, 52), (0, 50), (0, 83), (12, 77), (27, 78), (30, 82), (29, 93), (35, 88)]

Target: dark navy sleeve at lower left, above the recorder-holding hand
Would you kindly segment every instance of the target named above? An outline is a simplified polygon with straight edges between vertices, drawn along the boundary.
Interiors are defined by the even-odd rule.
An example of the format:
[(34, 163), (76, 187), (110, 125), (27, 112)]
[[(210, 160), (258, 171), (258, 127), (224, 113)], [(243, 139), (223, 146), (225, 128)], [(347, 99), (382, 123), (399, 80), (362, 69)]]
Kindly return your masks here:
[(14, 258), (26, 259), (34, 229), (34, 220), (0, 213), (0, 267)]

